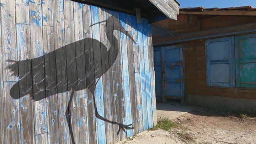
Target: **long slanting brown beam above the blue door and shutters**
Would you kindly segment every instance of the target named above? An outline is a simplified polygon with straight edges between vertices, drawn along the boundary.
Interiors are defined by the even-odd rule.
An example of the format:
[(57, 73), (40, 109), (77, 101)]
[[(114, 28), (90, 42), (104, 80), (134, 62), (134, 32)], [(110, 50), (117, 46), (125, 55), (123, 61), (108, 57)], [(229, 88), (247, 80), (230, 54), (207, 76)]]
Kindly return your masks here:
[(175, 37), (166, 37), (153, 39), (154, 46), (166, 45), (171, 43), (178, 43), (184, 41), (192, 41), (196, 39), (204, 39), (204, 38), (212, 38), (212, 37), (223, 37), (230, 36), (234, 34), (242, 34), (242, 33), (255, 33), (256, 23), (248, 23), (244, 25), (230, 26), (230, 27), (222, 27), (222, 28), (214, 28), (205, 31), (196, 31), (180, 34)]

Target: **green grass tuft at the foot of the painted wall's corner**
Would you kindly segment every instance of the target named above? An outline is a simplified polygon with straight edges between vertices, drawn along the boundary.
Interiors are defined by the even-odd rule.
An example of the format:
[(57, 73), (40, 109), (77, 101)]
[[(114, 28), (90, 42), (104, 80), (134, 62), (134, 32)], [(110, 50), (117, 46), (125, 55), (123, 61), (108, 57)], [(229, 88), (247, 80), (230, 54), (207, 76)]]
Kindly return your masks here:
[(178, 125), (169, 118), (159, 117), (158, 124), (155, 127), (151, 128), (150, 130), (163, 129), (169, 131), (171, 128), (175, 128), (177, 126)]

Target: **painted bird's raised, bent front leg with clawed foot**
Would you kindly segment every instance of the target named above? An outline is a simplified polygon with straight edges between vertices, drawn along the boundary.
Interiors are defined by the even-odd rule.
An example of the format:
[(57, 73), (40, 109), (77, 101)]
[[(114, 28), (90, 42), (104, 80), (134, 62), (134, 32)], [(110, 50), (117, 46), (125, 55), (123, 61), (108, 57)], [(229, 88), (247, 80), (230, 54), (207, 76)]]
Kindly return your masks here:
[[(97, 81), (98, 82), (98, 81)], [(96, 84), (97, 84), (96, 82)], [(90, 89), (90, 88), (89, 88)], [(93, 98), (93, 101), (94, 101), (94, 110), (95, 110), (95, 116), (96, 118), (102, 120), (102, 121), (105, 121), (105, 122), (108, 122), (108, 123), (112, 123), (112, 124), (117, 124), (119, 126), (119, 129), (118, 129), (118, 132), (117, 132), (117, 135), (119, 134), (120, 130), (122, 129), (124, 132), (126, 132), (125, 129), (133, 129), (133, 127), (130, 127), (132, 126), (132, 124), (128, 124), (128, 125), (124, 125), (122, 123), (118, 123), (118, 122), (113, 122), (113, 121), (110, 121), (104, 117), (102, 117), (99, 113), (98, 113), (98, 109), (97, 109), (97, 106), (96, 106), (96, 100), (95, 100), (95, 92), (94, 92), (95, 89), (90, 89), (91, 93), (92, 93), (92, 98)]]

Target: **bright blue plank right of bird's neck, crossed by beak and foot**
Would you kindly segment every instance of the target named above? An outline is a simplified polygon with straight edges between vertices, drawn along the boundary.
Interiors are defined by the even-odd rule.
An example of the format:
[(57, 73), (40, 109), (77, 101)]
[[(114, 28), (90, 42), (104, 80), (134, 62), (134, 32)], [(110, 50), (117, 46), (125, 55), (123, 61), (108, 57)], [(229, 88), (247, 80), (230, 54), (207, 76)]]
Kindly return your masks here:
[[(119, 12), (119, 19), (121, 26), (126, 30), (126, 14)], [(124, 88), (124, 101), (126, 109), (126, 125), (132, 124), (132, 110), (130, 100), (130, 81), (129, 81), (129, 66), (128, 66), (128, 53), (127, 53), (127, 37), (126, 33), (121, 32), (121, 49), (122, 49), (122, 65), (123, 65), (123, 88)], [(127, 137), (133, 135), (133, 130), (127, 130)]]

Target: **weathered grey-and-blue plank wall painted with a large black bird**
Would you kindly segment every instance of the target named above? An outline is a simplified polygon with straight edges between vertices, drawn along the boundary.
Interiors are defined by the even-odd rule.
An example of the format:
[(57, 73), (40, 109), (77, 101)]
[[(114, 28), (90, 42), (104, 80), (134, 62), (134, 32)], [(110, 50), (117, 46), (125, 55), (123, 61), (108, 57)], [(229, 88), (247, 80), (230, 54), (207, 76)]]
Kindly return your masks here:
[(148, 20), (71, 0), (0, 9), (0, 143), (116, 143), (156, 125)]

